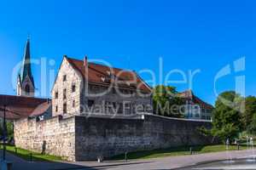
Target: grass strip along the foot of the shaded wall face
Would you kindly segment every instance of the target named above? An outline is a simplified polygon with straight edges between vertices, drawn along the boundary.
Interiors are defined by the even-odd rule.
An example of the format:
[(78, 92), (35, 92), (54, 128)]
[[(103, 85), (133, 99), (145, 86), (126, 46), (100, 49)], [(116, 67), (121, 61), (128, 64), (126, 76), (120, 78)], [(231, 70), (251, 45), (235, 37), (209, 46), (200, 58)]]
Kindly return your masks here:
[[(241, 144), (240, 150), (246, 150), (247, 145)], [(219, 145), (207, 145), (207, 146), (193, 146), (193, 154), (203, 154), (210, 152), (225, 151), (226, 146), (224, 144)], [(230, 150), (237, 150), (237, 145), (230, 145)], [(148, 151), (137, 151), (127, 154), (127, 159), (149, 159), (149, 158), (159, 158), (166, 156), (186, 156), (190, 155), (190, 147), (176, 147), (162, 150), (148, 150)], [(124, 160), (125, 155), (113, 156), (110, 160)]]

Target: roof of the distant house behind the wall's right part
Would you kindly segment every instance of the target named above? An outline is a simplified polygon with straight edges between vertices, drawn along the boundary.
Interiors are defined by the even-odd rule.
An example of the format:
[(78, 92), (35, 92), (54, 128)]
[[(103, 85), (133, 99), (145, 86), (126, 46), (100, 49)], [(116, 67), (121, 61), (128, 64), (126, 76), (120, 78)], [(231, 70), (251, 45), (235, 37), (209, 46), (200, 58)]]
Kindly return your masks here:
[(191, 100), (193, 103), (201, 105), (203, 108), (205, 109), (209, 109), (212, 110), (214, 109), (214, 107), (210, 104), (207, 104), (207, 102), (203, 101), (202, 99), (198, 98), (197, 96), (195, 96), (195, 94), (192, 92), (192, 90), (186, 90), (180, 94), (178, 94), (181, 98), (183, 99), (189, 99)]

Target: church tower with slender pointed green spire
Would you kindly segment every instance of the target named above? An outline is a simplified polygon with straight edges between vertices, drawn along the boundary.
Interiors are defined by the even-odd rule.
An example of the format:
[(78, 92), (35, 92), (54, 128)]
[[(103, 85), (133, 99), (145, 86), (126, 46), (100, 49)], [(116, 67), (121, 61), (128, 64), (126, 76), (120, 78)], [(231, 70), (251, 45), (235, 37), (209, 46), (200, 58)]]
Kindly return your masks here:
[(34, 85), (34, 79), (32, 77), (30, 41), (28, 38), (26, 41), (23, 62), (20, 68), (18, 79), (17, 79), (17, 95), (34, 97), (34, 94), (35, 94), (35, 85)]

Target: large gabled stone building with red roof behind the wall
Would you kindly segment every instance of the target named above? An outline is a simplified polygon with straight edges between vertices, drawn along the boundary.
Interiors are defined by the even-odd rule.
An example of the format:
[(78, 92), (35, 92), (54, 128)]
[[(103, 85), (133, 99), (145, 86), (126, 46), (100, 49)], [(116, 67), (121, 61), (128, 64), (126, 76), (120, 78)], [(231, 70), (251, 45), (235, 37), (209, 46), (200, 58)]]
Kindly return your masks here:
[(64, 56), (52, 89), (53, 116), (152, 112), (151, 88), (135, 71)]

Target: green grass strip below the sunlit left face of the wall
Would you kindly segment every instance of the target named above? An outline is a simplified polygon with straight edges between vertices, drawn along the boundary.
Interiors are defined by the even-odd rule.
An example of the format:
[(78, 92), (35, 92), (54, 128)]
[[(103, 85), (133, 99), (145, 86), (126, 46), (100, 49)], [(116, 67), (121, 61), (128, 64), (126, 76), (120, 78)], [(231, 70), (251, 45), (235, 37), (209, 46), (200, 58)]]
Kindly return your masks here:
[[(3, 149), (3, 146), (1, 147), (1, 149)], [(10, 146), (10, 145), (6, 146), (6, 150), (9, 153), (11, 153), (15, 156), (19, 156), (20, 158), (22, 158), (26, 161), (31, 160), (31, 153), (32, 153), (32, 161), (61, 161), (60, 156), (42, 155), (42, 154), (39, 154), (36, 152), (32, 152), (29, 150), (23, 150), (20, 148), (17, 148), (17, 153), (15, 153), (15, 146)]]

